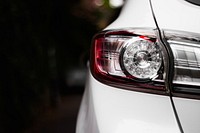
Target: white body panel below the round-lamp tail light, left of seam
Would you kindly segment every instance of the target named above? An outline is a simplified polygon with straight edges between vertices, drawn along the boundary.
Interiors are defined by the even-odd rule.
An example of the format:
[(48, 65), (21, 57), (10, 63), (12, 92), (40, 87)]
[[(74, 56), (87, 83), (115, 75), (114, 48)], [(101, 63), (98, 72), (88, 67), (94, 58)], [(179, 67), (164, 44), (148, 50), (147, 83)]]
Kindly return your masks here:
[(88, 103), (93, 104), (89, 106), (94, 110), (89, 111), (92, 108), (88, 108), (87, 104), (82, 105), (85, 107), (80, 110), (77, 133), (93, 133), (84, 129), (93, 128), (94, 123), (85, 121), (82, 116), (86, 114), (95, 118), (99, 133), (180, 132), (168, 96), (118, 89), (98, 82), (90, 73), (88, 76), (88, 94), (84, 95), (83, 101), (90, 95), (92, 101)]

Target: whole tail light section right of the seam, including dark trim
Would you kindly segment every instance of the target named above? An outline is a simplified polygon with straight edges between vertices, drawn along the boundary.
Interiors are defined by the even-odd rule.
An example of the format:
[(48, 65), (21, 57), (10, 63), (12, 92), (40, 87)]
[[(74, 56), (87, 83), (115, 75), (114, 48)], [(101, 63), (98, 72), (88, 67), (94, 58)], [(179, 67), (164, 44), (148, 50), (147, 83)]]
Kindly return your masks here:
[(198, 34), (165, 31), (174, 56), (174, 88), (200, 93), (200, 38)]

